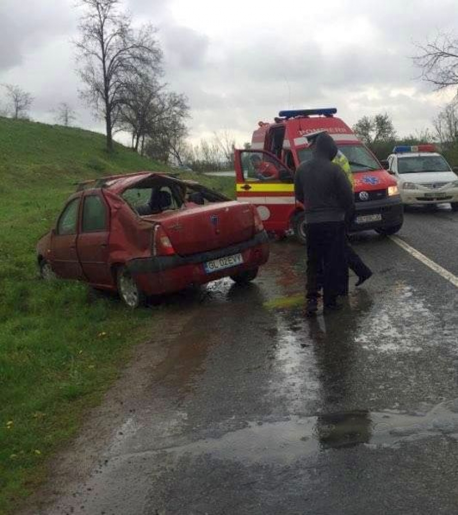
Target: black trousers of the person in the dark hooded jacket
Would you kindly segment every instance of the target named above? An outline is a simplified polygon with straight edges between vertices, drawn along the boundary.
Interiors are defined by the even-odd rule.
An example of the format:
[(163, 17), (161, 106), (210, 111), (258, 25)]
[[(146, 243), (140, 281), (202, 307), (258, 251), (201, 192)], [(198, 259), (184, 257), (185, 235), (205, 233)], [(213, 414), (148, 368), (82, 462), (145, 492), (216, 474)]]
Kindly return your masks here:
[(323, 302), (333, 303), (348, 283), (346, 234), (344, 222), (308, 224), (307, 231), (307, 298), (318, 297), (322, 271)]

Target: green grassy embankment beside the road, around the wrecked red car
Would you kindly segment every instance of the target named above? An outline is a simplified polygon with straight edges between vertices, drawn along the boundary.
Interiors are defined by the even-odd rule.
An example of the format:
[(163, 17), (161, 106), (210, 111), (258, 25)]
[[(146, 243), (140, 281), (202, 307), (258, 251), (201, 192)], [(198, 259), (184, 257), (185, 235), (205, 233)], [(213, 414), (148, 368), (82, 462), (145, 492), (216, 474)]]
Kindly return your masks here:
[[(0, 118), (0, 513), (46, 476), (47, 459), (75, 435), (160, 308), (128, 311), (91, 300), (83, 284), (38, 279), (35, 246), (75, 183), (163, 169), (79, 129)], [(192, 174), (186, 174), (192, 177)], [(233, 195), (229, 178), (202, 182)]]

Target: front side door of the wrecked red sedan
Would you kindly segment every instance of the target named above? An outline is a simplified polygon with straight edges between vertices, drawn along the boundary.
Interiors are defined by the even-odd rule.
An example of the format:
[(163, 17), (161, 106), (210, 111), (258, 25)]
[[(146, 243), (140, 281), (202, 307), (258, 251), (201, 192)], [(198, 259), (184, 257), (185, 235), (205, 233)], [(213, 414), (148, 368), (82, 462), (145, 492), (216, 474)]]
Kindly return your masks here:
[(57, 275), (64, 279), (83, 278), (76, 250), (80, 200), (77, 196), (66, 204), (51, 238), (50, 261)]

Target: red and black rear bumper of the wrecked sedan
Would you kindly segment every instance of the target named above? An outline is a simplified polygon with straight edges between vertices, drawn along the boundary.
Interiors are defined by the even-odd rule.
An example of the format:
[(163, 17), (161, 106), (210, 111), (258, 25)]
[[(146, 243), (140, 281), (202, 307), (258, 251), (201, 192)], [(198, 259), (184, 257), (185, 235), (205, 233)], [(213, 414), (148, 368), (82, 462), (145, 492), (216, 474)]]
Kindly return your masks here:
[[(216, 272), (207, 273), (203, 263), (242, 254), (243, 263)], [(263, 265), (269, 256), (268, 237), (265, 231), (254, 238), (223, 249), (199, 252), (189, 256), (151, 256), (137, 258), (127, 263), (127, 269), (148, 295), (178, 291), (192, 284), (204, 284), (222, 277)]]

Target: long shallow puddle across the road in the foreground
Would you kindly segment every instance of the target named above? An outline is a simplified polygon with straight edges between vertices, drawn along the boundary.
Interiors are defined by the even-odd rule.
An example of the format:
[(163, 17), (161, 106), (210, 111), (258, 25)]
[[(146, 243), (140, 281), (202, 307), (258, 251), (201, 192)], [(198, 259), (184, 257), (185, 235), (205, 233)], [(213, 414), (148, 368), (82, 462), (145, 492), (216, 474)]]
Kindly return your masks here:
[(173, 451), (287, 465), (304, 455), (329, 449), (355, 445), (371, 449), (398, 448), (403, 443), (441, 435), (458, 441), (458, 399), (443, 402), (423, 415), (394, 410), (353, 410), (275, 422), (251, 422), (246, 428), (222, 438), (200, 440)]

